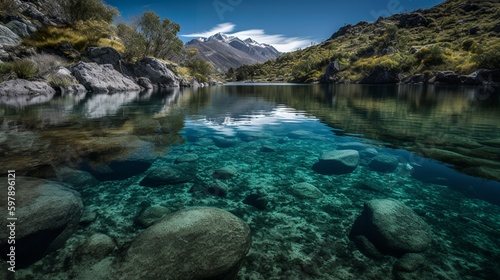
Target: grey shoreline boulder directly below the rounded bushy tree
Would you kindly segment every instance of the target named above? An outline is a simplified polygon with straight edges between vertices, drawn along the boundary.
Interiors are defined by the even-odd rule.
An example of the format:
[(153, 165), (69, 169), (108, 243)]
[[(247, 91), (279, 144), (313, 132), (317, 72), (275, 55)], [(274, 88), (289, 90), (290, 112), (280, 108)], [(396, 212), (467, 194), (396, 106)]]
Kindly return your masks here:
[(182, 78), (169, 67), (174, 67), (174, 65), (153, 57), (144, 57), (137, 61), (134, 72), (137, 77), (146, 77), (157, 86), (178, 87)]

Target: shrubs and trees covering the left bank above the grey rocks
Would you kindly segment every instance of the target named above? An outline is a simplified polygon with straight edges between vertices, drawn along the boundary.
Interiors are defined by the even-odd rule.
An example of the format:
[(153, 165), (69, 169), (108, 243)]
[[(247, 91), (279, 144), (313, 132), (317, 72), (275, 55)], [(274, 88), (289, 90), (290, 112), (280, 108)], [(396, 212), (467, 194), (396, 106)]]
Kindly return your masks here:
[(180, 66), (173, 67), (179, 70), (176, 74), (208, 80), (211, 65), (183, 49), (179, 24), (153, 11), (115, 25), (118, 18), (118, 10), (102, 0), (0, 0), (0, 27), (5, 30), (15, 22), (26, 29), (20, 39), (11, 39), (15, 44), (0, 42), (0, 82), (13, 78), (50, 82), (46, 76), (61, 65), (89, 61), (89, 47), (111, 47), (130, 63), (156, 57), (172, 64), (175, 58)]

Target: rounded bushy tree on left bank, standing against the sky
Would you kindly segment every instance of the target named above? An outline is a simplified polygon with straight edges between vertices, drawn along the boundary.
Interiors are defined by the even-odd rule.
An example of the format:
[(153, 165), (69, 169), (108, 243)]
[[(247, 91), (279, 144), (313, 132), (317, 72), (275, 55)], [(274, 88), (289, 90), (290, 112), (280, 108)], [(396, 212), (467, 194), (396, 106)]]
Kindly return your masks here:
[(180, 26), (168, 18), (162, 21), (153, 11), (147, 11), (137, 20), (136, 25), (145, 40), (144, 56), (171, 58), (182, 50), (183, 43), (177, 37)]

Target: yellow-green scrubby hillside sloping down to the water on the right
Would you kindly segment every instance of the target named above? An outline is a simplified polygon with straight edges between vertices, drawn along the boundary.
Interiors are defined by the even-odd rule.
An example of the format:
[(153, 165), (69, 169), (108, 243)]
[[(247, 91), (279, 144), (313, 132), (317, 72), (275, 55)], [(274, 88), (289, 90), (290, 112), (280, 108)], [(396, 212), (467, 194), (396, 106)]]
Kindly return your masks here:
[(444, 70), (470, 74), (500, 65), (500, 2), (447, 0), (428, 10), (346, 25), (327, 41), (227, 73), (229, 80), (316, 82), (332, 61), (330, 82), (362, 82), (374, 72), (400, 77)]

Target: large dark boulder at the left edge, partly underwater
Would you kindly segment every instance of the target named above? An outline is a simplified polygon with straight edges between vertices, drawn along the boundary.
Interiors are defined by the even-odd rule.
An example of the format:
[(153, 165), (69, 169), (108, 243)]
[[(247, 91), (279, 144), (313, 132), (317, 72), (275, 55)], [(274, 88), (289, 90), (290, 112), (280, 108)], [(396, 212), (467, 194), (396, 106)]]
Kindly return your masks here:
[[(15, 205), (16, 264), (25, 267), (64, 246), (76, 230), (83, 203), (78, 192), (57, 182), (29, 177), (16, 177), (15, 182), (19, 198)], [(9, 217), (6, 196), (0, 208)], [(2, 252), (10, 246), (9, 232), (6, 226), (0, 230)]]

